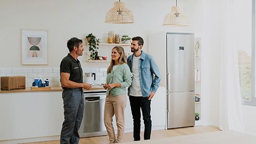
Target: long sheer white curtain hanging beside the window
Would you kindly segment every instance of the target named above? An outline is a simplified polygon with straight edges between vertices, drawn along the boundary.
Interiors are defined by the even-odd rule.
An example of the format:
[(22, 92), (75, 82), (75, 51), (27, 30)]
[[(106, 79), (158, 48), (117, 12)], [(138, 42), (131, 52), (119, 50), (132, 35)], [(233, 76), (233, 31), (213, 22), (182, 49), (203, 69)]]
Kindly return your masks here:
[(220, 130), (243, 131), (237, 48), (234, 36), (234, 1), (223, 1), (223, 42), (220, 74)]

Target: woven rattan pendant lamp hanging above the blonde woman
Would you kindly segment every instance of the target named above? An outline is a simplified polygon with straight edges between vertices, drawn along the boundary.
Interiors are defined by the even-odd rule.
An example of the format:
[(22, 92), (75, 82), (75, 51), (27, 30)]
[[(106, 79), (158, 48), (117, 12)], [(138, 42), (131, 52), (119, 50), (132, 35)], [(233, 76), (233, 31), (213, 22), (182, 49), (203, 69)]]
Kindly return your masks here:
[(125, 7), (124, 2), (114, 2), (114, 7), (106, 15), (106, 23), (134, 23), (133, 14)]

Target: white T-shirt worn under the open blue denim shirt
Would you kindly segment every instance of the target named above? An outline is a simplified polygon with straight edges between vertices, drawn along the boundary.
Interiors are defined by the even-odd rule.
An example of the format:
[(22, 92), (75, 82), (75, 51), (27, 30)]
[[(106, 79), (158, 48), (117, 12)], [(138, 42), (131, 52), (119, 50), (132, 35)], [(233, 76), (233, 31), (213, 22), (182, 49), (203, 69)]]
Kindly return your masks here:
[(139, 77), (139, 59), (140, 57), (135, 57), (133, 55), (132, 61), (132, 85), (130, 87), (130, 95), (135, 97), (142, 97), (140, 89), (140, 77)]

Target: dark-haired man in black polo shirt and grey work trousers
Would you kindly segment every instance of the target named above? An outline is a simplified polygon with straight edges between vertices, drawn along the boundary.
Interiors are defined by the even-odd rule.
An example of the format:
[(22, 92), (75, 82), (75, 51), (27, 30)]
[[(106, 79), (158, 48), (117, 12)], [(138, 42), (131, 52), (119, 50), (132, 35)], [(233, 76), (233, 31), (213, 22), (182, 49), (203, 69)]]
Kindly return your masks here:
[(69, 53), (60, 63), (60, 82), (63, 89), (64, 122), (62, 124), (60, 143), (78, 143), (78, 130), (84, 114), (83, 88), (92, 86), (83, 83), (83, 70), (77, 57), (83, 55), (82, 40), (73, 37), (67, 43)]

